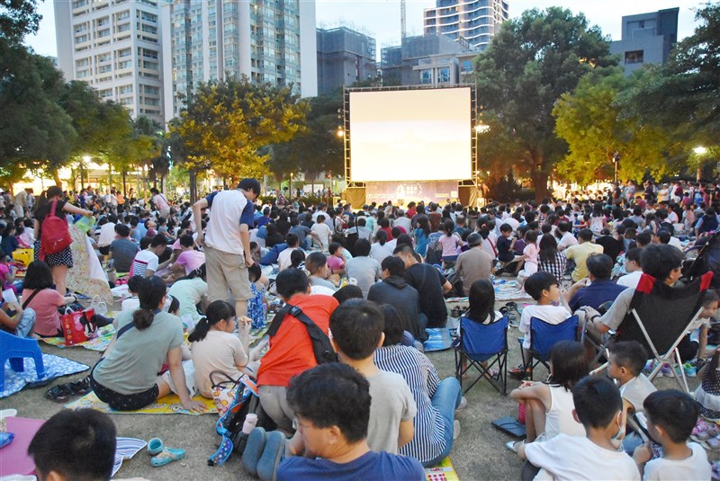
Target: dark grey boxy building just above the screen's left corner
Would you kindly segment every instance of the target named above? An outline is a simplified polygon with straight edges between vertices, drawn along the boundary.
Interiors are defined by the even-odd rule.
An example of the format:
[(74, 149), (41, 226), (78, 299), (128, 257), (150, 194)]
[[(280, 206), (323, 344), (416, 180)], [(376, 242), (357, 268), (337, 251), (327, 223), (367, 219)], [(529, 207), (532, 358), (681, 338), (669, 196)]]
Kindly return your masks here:
[(318, 93), (377, 76), (374, 38), (347, 27), (318, 29)]

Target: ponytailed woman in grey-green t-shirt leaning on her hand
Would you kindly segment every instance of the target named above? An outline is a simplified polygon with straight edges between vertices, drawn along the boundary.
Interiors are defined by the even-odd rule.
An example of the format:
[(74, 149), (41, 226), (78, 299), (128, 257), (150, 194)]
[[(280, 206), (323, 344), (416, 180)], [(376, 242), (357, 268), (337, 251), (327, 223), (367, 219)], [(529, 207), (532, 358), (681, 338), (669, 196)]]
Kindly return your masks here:
[[(142, 280), (140, 306), (117, 316), (117, 334), (90, 374), (95, 395), (118, 411), (136, 411), (170, 394), (169, 384), (157, 372), (167, 361), (175, 386), (186, 386), (182, 365), (183, 324), (163, 312), (165, 282), (157, 276)], [(187, 389), (178, 389), (183, 407), (204, 411)]]

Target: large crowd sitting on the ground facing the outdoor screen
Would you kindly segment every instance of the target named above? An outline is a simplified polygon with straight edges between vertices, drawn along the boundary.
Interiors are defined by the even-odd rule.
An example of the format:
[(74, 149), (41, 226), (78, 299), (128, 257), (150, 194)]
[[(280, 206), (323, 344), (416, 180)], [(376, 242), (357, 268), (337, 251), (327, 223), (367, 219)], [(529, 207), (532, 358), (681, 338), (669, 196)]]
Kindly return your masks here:
[[(510, 393), (526, 416), (526, 440), (508, 443), (527, 459), (522, 476), (711, 477), (706, 449), (720, 450), (720, 353), (707, 347), (717, 344), (715, 291), (700, 299), (703, 310), (678, 345), (679, 366), (656, 366), (641, 343), (617, 342), (604, 352), (608, 376), (589, 374), (599, 360), (593, 346), (624, 322), (649, 279), (643, 274), (674, 285), (685, 251), (697, 254), (716, 231), (720, 187), (629, 182), (595, 198), (481, 209), (457, 202), (359, 209), (284, 198), (259, 205), (260, 189), (245, 179), (193, 205), (157, 189), (142, 205), (114, 190), (74, 195), (57, 186), (37, 200), (28, 191), (4, 197), (0, 275), (21, 300), (4, 302), (0, 325), (19, 336), (61, 336), (58, 308), (77, 302), (68, 276), (78, 268), (93, 278), (99, 268), (102, 286), (70, 289), (92, 298), (127, 280), (115, 337), (87, 379), (113, 409), (137, 410), (175, 392), (184, 408), (202, 411), (192, 395), (212, 396), (211, 373), (247, 376), (275, 425), (250, 432), (242, 454), (249, 474), (424, 479), (423, 467), (452, 450), (455, 410), (466, 405), (459, 379), (439, 379), (423, 353), (426, 329), (447, 325), (446, 298), (467, 297), (461, 326), (507, 318), (518, 327), (523, 364), (512, 373), (519, 379), (532, 375), (531, 319), (561, 325), (576, 314), (582, 335), (554, 345), (549, 379), (524, 380)], [(67, 218), (73, 236), (58, 252), (43, 245), (52, 217)], [(20, 280), (13, 258), (23, 248), (33, 248), (34, 261)], [(493, 282), (504, 274), (536, 303), (496, 312)], [(250, 349), (250, 331), (267, 325), (269, 339)], [(321, 358), (311, 336), (318, 331), (339, 362)], [(500, 379), (482, 366), (484, 376)], [(694, 398), (658, 391), (644, 374), (655, 368), (701, 377)], [(84, 448), (93, 462), (52, 449), (90, 439), (89, 432), (104, 433)], [(31, 455), (40, 479), (50, 472), (109, 479), (112, 455), (102, 454), (114, 452), (114, 439), (104, 414), (65, 411), (45, 423)], [(159, 450), (157, 463), (181, 457)]]

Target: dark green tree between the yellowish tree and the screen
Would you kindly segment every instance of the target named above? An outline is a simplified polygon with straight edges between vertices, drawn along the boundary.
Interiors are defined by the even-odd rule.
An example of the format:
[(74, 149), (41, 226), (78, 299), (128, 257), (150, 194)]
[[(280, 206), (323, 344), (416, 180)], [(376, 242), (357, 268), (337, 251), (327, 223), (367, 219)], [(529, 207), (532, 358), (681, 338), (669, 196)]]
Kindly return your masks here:
[(338, 119), (340, 109), (340, 91), (310, 100), (306, 129), (293, 140), (273, 146), (267, 166), (278, 180), (290, 173), (302, 172), (315, 179), (322, 172), (340, 174), (343, 171), (343, 138), (338, 137), (338, 126), (342, 122)]

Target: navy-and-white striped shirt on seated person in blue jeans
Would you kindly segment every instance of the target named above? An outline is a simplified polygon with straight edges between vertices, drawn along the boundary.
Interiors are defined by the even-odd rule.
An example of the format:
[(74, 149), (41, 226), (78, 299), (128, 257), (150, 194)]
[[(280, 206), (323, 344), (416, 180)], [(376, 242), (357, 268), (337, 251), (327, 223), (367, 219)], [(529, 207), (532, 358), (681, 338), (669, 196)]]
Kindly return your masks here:
[(375, 364), (381, 370), (400, 374), (410, 386), (415, 404), (418, 405), (415, 435), (399, 453), (420, 462), (436, 459), (445, 448), (446, 425), (431, 401), (440, 383), (435, 366), (422, 352), (400, 344), (377, 349)]

